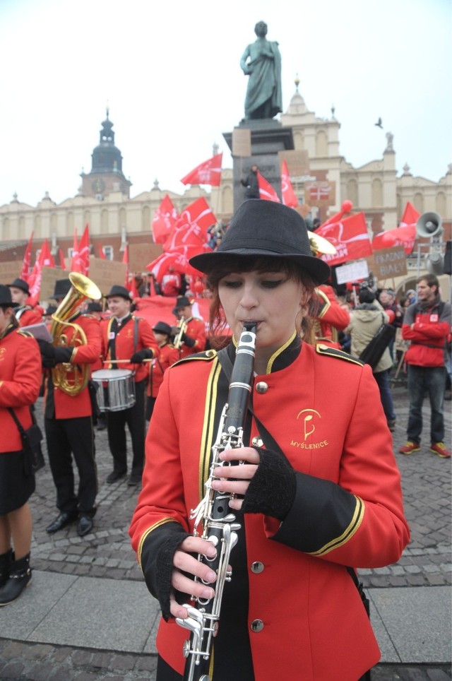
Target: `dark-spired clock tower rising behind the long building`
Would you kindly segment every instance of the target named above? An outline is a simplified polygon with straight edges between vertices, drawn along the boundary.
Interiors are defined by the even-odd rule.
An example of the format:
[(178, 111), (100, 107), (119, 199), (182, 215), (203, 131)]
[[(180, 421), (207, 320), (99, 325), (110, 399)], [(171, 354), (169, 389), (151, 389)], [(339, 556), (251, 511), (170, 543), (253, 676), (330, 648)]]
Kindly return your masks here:
[(121, 152), (114, 146), (113, 124), (107, 118), (102, 122), (99, 144), (91, 155), (91, 172), (81, 172), (83, 196), (93, 196), (98, 201), (103, 201), (107, 194), (112, 191), (121, 191), (121, 194), (130, 199), (131, 182), (124, 177), (122, 172)]

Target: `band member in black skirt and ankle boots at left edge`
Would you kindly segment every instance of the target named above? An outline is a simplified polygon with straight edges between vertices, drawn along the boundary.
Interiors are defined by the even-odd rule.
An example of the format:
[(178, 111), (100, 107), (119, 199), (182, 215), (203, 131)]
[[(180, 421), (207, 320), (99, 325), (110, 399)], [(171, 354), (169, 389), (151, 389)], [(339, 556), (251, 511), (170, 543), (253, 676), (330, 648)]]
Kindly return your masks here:
[(23, 443), (11, 408), (24, 430), (40, 391), (41, 357), (34, 338), (18, 330), (11, 292), (0, 285), (0, 605), (30, 584), (32, 516), (28, 499), (35, 475), (25, 465)]

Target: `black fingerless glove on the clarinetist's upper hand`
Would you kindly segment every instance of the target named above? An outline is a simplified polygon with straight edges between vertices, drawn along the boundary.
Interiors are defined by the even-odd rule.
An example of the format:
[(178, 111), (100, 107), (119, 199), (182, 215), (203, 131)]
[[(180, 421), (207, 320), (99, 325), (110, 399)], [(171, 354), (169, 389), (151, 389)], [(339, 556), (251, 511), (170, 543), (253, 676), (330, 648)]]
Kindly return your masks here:
[(280, 521), (292, 508), (297, 491), (295, 470), (284, 454), (254, 447), (261, 458), (244, 496), (244, 513), (263, 513)]

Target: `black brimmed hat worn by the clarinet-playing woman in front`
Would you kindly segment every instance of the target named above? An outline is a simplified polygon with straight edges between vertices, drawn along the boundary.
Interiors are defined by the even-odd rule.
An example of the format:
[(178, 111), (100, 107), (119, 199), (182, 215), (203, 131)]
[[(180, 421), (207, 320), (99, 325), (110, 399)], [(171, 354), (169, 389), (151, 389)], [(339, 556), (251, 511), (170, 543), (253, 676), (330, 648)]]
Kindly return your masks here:
[(276, 201), (249, 199), (234, 214), (220, 246), (215, 251), (189, 259), (191, 266), (208, 274), (219, 263), (233, 257), (270, 256), (297, 263), (314, 283), (328, 280), (330, 268), (311, 253), (304, 220), (297, 211)]

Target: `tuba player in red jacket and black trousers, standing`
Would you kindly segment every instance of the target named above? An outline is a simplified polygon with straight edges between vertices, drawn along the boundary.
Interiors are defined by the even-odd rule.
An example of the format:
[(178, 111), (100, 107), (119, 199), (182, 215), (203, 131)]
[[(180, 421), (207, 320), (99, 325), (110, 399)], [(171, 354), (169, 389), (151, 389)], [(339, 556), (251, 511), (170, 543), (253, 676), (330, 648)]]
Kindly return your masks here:
[[(57, 305), (63, 302), (71, 288), (69, 279), (55, 282), (53, 297)], [(57, 308), (55, 315), (58, 314)], [(59, 371), (65, 370), (63, 365), (68, 365), (67, 379), (72, 381), (74, 372), (86, 365), (94, 365), (99, 359), (100, 331), (97, 320), (88, 314), (81, 314), (79, 309), (75, 309), (65, 321), (81, 327), (86, 337), (85, 344), (74, 344), (76, 330), (73, 326), (64, 326), (65, 345), (55, 346), (45, 340), (38, 340), (38, 343), (42, 365), (46, 369)], [(46, 528), (49, 534), (54, 534), (76, 521), (77, 533), (81, 537), (93, 529), (97, 469), (92, 415), (89, 387), (85, 386), (78, 393), (70, 393), (63, 385), (54, 381), (52, 371), (49, 371), (44, 393), (44, 427), (59, 509), (57, 518)], [(74, 489), (72, 457), (78, 470), (77, 492)]]

